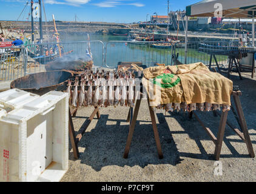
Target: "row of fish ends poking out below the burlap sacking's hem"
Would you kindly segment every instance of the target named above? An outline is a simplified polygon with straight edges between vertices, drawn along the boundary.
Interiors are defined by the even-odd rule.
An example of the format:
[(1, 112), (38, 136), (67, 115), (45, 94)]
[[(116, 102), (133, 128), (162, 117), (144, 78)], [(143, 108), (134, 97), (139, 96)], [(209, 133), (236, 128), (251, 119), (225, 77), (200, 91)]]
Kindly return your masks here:
[(183, 110), (184, 112), (191, 112), (194, 110), (199, 110), (199, 111), (212, 111), (212, 110), (221, 110), (225, 112), (226, 110), (230, 110), (229, 105), (220, 105), (220, 104), (211, 104), (209, 102), (204, 102), (204, 103), (192, 103), (192, 104), (187, 104), (186, 102), (181, 102), (181, 103), (169, 103), (169, 104), (161, 104), (156, 107), (156, 109), (164, 109), (166, 112), (173, 112), (174, 110), (177, 110), (179, 112), (180, 110)]

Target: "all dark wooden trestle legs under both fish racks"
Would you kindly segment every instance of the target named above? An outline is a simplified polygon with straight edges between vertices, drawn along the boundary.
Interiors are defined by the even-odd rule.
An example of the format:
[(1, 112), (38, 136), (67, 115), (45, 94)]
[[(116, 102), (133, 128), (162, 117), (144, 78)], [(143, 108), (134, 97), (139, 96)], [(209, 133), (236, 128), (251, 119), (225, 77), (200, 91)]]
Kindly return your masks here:
[[(234, 112), (234, 107), (231, 106), (231, 109), (234, 112), (235, 118), (237, 118), (238, 124), (240, 125), (240, 128), (243, 132), (241, 132), (239, 129), (236, 129), (235, 127), (233, 127), (232, 124), (227, 121), (228, 111), (225, 111), (225, 112), (222, 112), (222, 113), (219, 113), (217, 111), (213, 112), (215, 116), (216, 115), (220, 116), (220, 125), (218, 127), (218, 136), (217, 136), (217, 138), (215, 137), (214, 133), (212, 133), (212, 131), (208, 127), (205, 127), (204, 123), (198, 118), (195, 111), (192, 111), (192, 112), (189, 113), (189, 118), (192, 118), (192, 115), (195, 115), (195, 118), (201, 124), (203, 129), (206, 130), (207, 134), (210, 136), (210, 138), (214, 142), (214, 144), (215, 144), (214, 156), (215, 156), (216, 160), (220, 159), (221, 146), (222, 146), (222, 142), (223, 142), (223, 138), (224, 138), (224, 130), (226, 128), (226, 124), (229, 125), (229, 127), (231, 127), (231, 129), (233, 129), (234, 132), (237, 133), (237, 135), (246, 143), (249, 155), (252, 158), (255, 157), (254, 149), (252, 147), (252, 142), (251, 142), (249, 132), (248, 132), (248, 128), (247, 128), (247, 124), (246, 124), (246, 120), (244, 118), (243, 109), (241, 107), (241, 102), (240, 102), (240, 98), (239, 98), (240, 95), (241, 95), (240, 91), (232, 92), (232, 96), (233, 96), (234, 102), (235, 102), (235, 107), (237, 109), (237, 115)], [(138, 112), (139, 112), (139, 109), (140, 109), (141, 100), (142, 100), (142, 95), (141, 95), (140, 99), (136, 100), (136, 105), (135, 105), (134, 112), (133, 112), (133, 107), (130, 107), (129, 114), (127, 116), (127, 122), (130, 122), (130, 124), (129, 124), (129, 134), (128, 134), (127, 141), (126, 141), (126, 148), (124, 150), (124, 156), (123, 156), (124, 158), (127, 158), (128, 155), (129, 155), (130, 144), (132, 142), (132, 136), (133, 136), (133, 132), (135, 130), (135, 124), (136, 124), (136, 120), (137, 120), (137, 117), (138, 117)], [(158, 135), (157, 122), (156, 122), (156, 119), (155, 119), (155, 112), (154, 112), (153, 108), (150, 107), (150, 105), (149, 105), (149, 98), (147, 98), (147, 104), (148, 104), (148, 107), (149, 107), (149, 113), (150, 113), (150, 117), (151, 117), (151, 121), (152, 121), (153, 133), (155, 135), (155, 142), (157, 144), (158, 156), (161, 159), (161, 158), (163, 158), (163, 153), (162, 153), (162, 150), (161, 150), (160, 138), (159, 138), (159, 135)], [(78, 159), (79, 158), (78, 142), (81, 140), (83, 134), (86, 132), (86, 129), (90, 125), (90, 122), (92, 121), (94, 116), (96, 115), (97, 118), (99, 119), (100, 115), (99, 115), (98, 107), (95, 107), (95, 110), (92, 112), (92, 115), (90, 115), (89, 119), (87, 119), (87, 121), (84, 122), (84, 124), (82, 125), (81, 130), (79, 131), (79, 134), (75, 136), (75, 130), (74, 130), (74, 127), (73, 127), (72, 116), (76, 115), (76, 111), (77, 111), (77, 109), (75, 109), (71, 113), (70, 109), (69, 109), (69, 136), (70, 136), (70, 141), (71, 141), (72, 148), (73, 148), (74, 158)]]

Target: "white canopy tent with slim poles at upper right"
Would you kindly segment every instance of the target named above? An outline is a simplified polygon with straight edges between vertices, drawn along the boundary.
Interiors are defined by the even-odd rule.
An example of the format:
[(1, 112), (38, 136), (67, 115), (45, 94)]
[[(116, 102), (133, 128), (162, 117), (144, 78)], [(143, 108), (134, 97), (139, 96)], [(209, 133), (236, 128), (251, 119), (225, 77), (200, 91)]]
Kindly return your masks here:
[(252, 45), (254, 45), (255, 0), (203, 0), (186, 7), (185, 63), (187, 62), (188, 16), (214, 17), (216, 14), (221, 15), (220, 11), (222, 18), (252, 18)]

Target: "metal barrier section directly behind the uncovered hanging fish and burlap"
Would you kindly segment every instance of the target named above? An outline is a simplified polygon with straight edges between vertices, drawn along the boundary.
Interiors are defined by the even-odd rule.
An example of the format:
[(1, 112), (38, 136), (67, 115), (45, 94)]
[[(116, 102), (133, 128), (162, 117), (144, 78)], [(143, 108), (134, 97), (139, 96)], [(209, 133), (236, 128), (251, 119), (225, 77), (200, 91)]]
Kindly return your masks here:
[(116, 68), (121, 61), (142, 62), (147, 66), (152, 66), (156, 62), (172, 65), (173, 45), (166, 45), (163, 49), (157, 43), (160, 42), (109, 41), (106, 43), (104, 65), (108, 68)]

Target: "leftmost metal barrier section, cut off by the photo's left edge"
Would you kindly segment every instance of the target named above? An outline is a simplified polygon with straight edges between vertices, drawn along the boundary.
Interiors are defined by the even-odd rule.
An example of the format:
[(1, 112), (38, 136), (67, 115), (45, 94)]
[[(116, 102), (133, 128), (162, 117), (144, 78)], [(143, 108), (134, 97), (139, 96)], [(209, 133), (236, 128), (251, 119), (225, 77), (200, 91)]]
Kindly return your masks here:
[(27, 50), (23, 47), (0, 48), (0, 81), (11, 81), (25, 75)]

